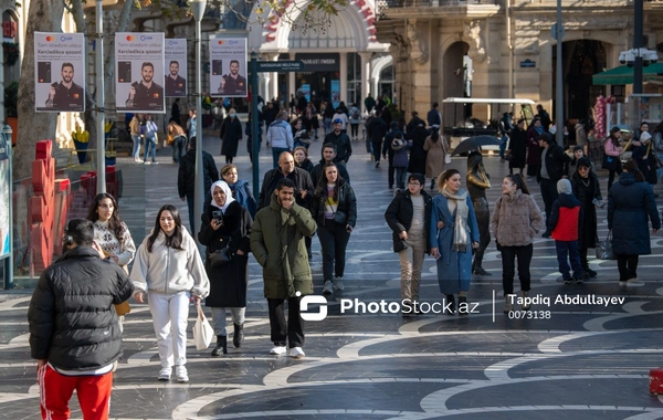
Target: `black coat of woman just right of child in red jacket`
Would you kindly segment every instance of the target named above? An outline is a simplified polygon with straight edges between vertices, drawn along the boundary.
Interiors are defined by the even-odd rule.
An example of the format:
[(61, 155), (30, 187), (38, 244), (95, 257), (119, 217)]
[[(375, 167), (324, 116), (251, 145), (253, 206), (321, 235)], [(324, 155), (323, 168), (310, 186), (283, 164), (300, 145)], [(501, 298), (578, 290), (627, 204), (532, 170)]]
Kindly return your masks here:
[[(589, 186), (585, 183), (589, 182)], [(571, 187), (573, 196), (580, 201), (580, 210), (585, 214), (578, 224), (578, 248), (596, 248), (599, 241), (597, 233), (597, 208), (592, 201), (601, 201), (601, 186), (599, 177), (594, 172), (589, 172), (587, 179), (582, 179), (580, 174), (575, 172), (571, 176)]]

